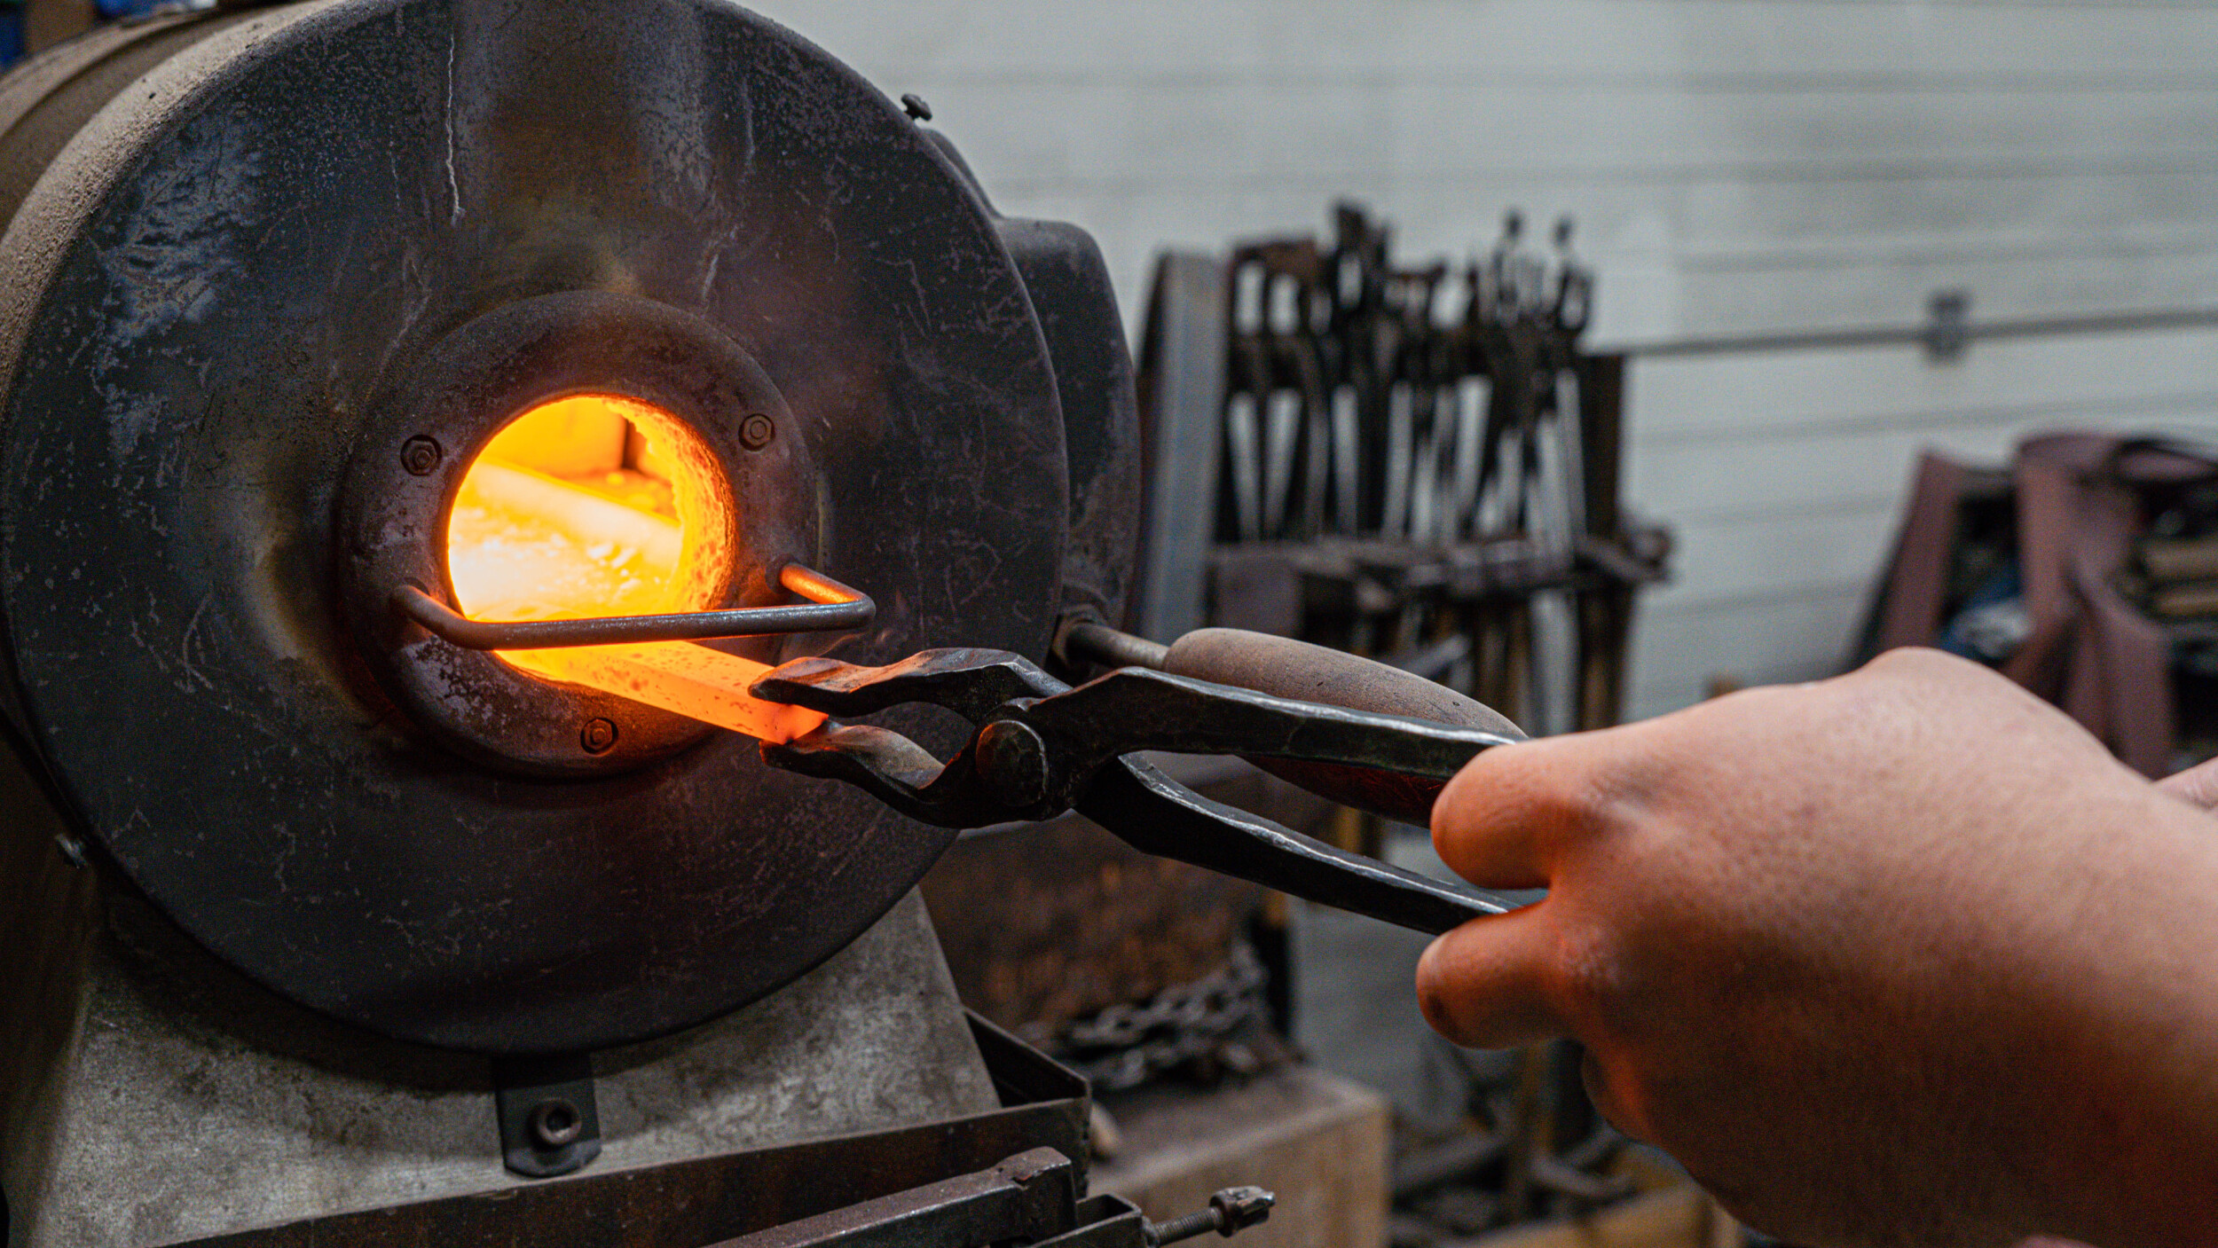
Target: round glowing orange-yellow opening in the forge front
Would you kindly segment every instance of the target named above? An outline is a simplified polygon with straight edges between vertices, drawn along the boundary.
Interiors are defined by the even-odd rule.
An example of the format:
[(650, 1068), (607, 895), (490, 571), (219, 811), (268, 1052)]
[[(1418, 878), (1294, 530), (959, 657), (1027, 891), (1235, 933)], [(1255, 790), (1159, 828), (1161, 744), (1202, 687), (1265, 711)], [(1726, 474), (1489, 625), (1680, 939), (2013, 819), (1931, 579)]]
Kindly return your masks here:
[[(683, 419), (621, 395), (539, 403), (477, 452), (448, 510), (455, 607), (481, 621), (716, 607), (734, 565), (730, 499)], [(535, 667), (530, 652), (501, 658)]]

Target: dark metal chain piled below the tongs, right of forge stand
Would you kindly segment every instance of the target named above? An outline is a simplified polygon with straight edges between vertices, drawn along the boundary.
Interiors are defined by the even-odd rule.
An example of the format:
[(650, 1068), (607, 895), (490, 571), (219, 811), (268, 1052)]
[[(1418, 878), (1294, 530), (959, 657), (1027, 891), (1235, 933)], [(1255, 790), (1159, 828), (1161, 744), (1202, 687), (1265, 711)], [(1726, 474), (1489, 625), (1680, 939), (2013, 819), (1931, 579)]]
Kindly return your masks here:
[(1198, 1057), (1222, 1057), (1240, 1029), (1266, 1017), (1266, 980), (1240, 942), (1220, 971), (1162, 989), (1147, 1004), (1120, 1002), (1074, 1020), (1054, 1048), (1093, 1091), (1133, 1088)]

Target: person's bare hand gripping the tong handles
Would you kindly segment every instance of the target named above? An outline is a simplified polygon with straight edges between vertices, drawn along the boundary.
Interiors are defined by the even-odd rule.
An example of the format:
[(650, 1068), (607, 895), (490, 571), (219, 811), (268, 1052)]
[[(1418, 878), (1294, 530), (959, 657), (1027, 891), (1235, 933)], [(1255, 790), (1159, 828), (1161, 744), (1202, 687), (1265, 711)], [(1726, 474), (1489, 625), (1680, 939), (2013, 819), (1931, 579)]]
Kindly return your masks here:
[(2218, 836), (1992, 672), (1894, 652), (1482, 754), (1433, 838), (1548, 887), (1420, 964), (1451, 1040), (1805, 1244), (2218, 1235)]

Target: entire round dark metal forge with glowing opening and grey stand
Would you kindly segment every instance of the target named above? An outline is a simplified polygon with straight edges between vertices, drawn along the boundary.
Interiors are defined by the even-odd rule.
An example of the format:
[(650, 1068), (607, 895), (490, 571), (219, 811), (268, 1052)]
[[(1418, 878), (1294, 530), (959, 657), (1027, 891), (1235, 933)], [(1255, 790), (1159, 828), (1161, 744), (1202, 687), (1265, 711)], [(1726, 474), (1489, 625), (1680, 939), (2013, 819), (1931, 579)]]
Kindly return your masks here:
[(0, 168), (11, 1248), (705, 1246), (1038, 1146), (1076, 1208), (954, 831), (745, 687), (1116, 618), (1085, 233), (723, 0), (166, 13)]

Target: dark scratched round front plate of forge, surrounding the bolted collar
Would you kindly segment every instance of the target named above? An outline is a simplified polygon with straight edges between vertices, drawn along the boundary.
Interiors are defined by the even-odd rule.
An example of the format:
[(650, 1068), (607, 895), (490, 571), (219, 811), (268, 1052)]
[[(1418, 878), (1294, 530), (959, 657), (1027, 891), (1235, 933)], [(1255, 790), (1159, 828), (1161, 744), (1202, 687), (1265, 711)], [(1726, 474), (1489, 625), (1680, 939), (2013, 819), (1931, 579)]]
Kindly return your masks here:
[(472, 317), (614, 290), (761, 364), (818, 470), (814, 559), (881, 612), (785, 656), (1047, 645), (1062, 430), (1022, 284), (898, 106), (739, 9), (257, 16), (98, 117), (0, 273), (27, 727), (157, 904), (339, 1017), (495, 1053), (681, 1029), (847, 944), (949, 840), (732, 734), (528, 780), (377, 694), (346, 466)]

